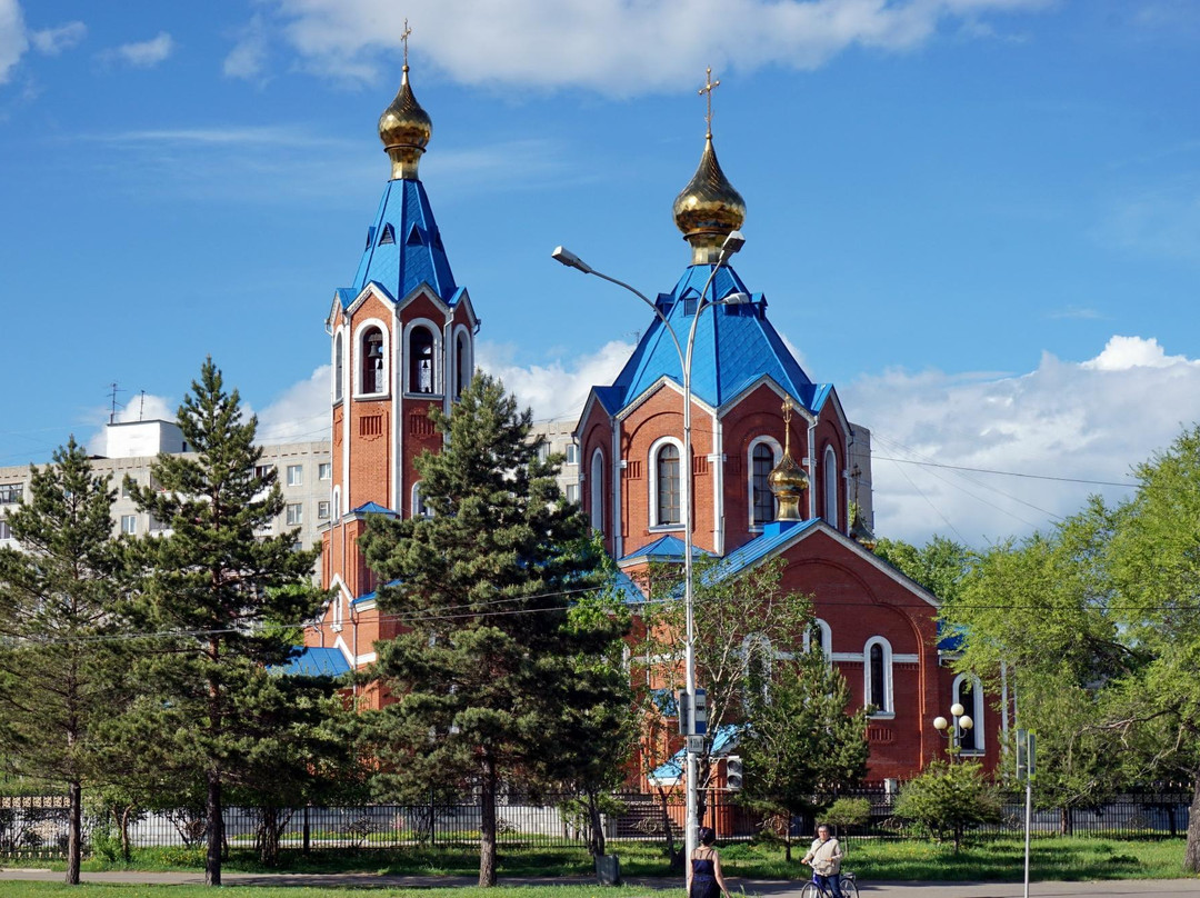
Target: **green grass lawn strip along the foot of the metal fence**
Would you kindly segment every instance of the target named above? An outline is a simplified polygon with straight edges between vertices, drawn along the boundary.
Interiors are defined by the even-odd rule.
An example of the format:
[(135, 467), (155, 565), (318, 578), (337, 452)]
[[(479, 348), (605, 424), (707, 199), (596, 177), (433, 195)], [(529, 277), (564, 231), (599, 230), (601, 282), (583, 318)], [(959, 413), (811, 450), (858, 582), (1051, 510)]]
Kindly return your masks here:
[[(784, 860), (782, 849), (773, 845), (732, 844), (721, 846), (726, 875), (748, 879), (803, 880), (809, 869), (799, 857), (806, 844), (793, 846), (793, 861)], [(647, 843), (610, 843), (610, 851), (620, 855), (625, 876), (667, 876), (661, 846)], [(852, 840), (847, 845), (846, 867), (864, 882), (872, 880), (976, 880), (1019, 881), (1024, 870), (1025, 845), (1020, 837), (978, 840), (964, 846), (958, 855), (952, 845), (917, 839)], [(1031, 878), (1034, 880), (1100, 879), (1174, 879), (1183, 875), (1183, 839), (1100, 839), (1034, 838)], [(11, 866), (41, 866), (16, 862)], [(46, 864), (61, 869), (62, 864)], [(91, 860), (84, 870), (121, 869)], [(130, 869), (199, 870), (199, 850), (146, 849), (139, 851)], [(305, 857), (286, 851), (277, 869), (264, 868), (250, 851), (234, 851), (224, 864), (229, 873), (389, 873), (420, 875), (467, 875), (479, 872), (479, 855), (467, 849), (404, 849), (361, 851), (314, 851)], [(592, 858), (582, 849), (502, 848), (498, 872), (504, 876), (588, 875)], [(6, 884), (5, 897), (8, 891)], [(594, 898), (594, 890), (586, 890)], [(606, 894), (619, 894), (608, 892)], [(174, 893), (173, 893), (174, 894)], [(262, 898), (263, 890), (254, 892)], [(292, 898), (300, 893), (288, 892)], [(538, 893), (547, 898), (545, 891)], [(574, 894), (574, 893), (572, 893)], [(581, 893), (582, 894), (582, 893)], [(439, 892), (439, 898), (442, 893)], [(570, 897), (568, 897), (570, 898)]]

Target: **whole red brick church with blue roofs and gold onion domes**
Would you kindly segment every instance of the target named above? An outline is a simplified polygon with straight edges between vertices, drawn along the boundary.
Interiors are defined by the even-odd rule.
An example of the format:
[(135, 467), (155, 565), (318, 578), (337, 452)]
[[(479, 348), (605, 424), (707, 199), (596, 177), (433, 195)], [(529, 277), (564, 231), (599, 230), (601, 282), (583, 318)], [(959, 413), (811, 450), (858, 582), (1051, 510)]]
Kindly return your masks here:
[[(376, 640), (396, 635), (397, 624), (376, 607), (377, 583), (358, 538), (370, 515), (425, 514), (413, 460), (440, 444), (428, 408), (449, 412), (474, 371), (479, 318), (455, 281), (418, 175), (432, 122), (408, 71), (406, 60), (400, 91), (379, 119), (391, 178), (354, 281), (334, 292), (325, 322), (332, 495), (320, 573), (335, 597), (306, 643), (331, 671), (371, 664)], [(936, 597), (871, 551), (869, 432), (850, 421), (832, 384), (800, 369), (772, 327), (766, 295), (720, 256), (745, 204), (718, 163), (712, 133), (674, 217), (690, 258), (674, 287), (658, 295), (616, 381), (592, 389), (574, 432), (580, 463), (571, 492), (634, 582), (650, 562), (683, 557), (685, 527), (696, 550), (731, 569), (784, 558), (785, 586), (815, 601), (812, 637), (820, 634), (821, 645), (810, 648), (839, 667), (854, 705), (875, 708), (869, 780), (908, 778), (944, 750), (934, 719), (955, 702), (976, 724), (964, 752), (994, 766), (1002, 722), (978, 681), (946, 666)], [(686, 335), (694, 323), (688, 509), (683, 373), (667, 325)], [(809, 641), (797, 634), (796, 646), (774, 648)]]

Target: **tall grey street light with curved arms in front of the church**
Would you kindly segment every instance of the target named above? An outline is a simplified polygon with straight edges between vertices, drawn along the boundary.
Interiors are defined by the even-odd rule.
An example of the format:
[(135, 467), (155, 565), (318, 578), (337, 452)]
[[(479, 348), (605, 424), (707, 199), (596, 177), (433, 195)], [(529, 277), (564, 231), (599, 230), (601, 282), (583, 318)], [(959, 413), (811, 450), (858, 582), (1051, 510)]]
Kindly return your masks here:
[[(683, 471), (683, 601), (684, 601), (684, 615), (686, 618), (686, 636), (684, 642), (684, 676), (688, 690), (688, 735), (696, 735), (696, 631), (695, 631), (695, 619), (692, 616), (692, 570), (691, 570), (691, 477), (692, 477), (692, 462), (691, 462), (691, 355), (692, 349), (696, 346), (696, 325), (700, 323), (700, 316), (709, 306), (716, 305), (740, 305), (749, 301), (749, 297), (745, 293), (730, 293), (727, 297), (721, 299), (709, 300), (708, 288), (712, 286), (713, 280), (716, 277), (716, 273), (721, 270), (730, 257), (733, 256), (738, 250), (745, 246), (745, 238), (742, 235), (740, 231), (731, 231), (725, 241), (721, 244), (720, 252), (716, 256), (716, 262), (712, 263), (713, 270), (708, 275), (708, 280), (704, 281), (704, 288), (700, 292), (700, 303), (696, 305), (696, 313), (691, 319), (691, 328), (688, 331), (688, 342), (684, 345), (679, 343), (679, 337), (671, 327), (671, 322), (659, 309), (658, 304), (652, 301), (644, 293), (634, 287), (629, 286), (624, 281), (618, 281), (616, 277), (610, 277), (602, 271), (596, 271), (583, 259), (576, 256), (574, 252), (564, 246), (558, 246), (551, 253), (551, 257), (557, 262), (566, 265), (568, 268), (574, 268), (577, 271), (582, 271), (586, 275), (594, 275), (601, 280), (614, 283), (618, 287), (624, 287), (626, 291), (632, 293), (646, 305), (650, 307), (654, 315), (658, 316), (659, 321), (662, 322), (662, 327), (666, 328), (667, 334), (671, 335), (671, 342), (674, 343), (676, 353), (679, 357), (679, 367), (683, 371), (683, 457), (680, 459), (680, 466)], [(680, 711), (682, 713), (682, 711)], [(696, 755), (691, 752), (686, 752), (688, 759), (688, 825), (685, 827), (686, 833), (686, 857), (691, 857), (692, 851), (696, 849)]]

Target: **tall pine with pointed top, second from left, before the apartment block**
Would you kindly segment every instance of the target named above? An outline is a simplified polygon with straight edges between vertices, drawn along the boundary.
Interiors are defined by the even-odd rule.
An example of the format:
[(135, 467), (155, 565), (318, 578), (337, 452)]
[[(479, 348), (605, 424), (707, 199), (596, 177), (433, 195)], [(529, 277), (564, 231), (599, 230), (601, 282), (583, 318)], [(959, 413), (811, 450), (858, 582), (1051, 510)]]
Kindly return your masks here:
[(157, 730), (157, 759), (203, 780), (205, 882), (217, 886), (226, 789), (252, 776), (270, 741), (293, 735), (313, 698), (298, 692), (320, 690), (271, 667), (295, 652), (300, 623), (324, 595), (311, 587), (317, 553), (295, 550), (294, 531), (264, 534), (283, 508), (276, 473), (259, 467), (257, 419), (242, 420), (238, 391), (226, 391), (211, 359), (178, 423), (196, 456), (160, 455), (157, 489), (126, 480), (169, 528), (133, 553), (145, 574), (140, 623), (157, 635), (139, 669), (152, 693), (128, 723)]

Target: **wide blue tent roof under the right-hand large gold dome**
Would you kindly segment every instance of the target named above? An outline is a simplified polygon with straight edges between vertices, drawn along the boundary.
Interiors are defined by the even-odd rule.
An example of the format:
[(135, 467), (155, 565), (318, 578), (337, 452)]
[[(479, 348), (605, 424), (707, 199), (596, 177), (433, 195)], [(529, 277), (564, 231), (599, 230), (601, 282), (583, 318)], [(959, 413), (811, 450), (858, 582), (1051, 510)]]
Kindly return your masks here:
[[(712, 265), (690, 265), (671, 293), (659, 294), (658, 306), (680, 342), (691, 328), (696, 300), (712, 270)], [(731, 293), (749, 294), (749, 291), (737, 271), (722, 267), (713, 279), (709, 297), (720, 299)], [(814, 384), (809, 379), (767, 321), (763, 294), (750, 295), (748, 303), (706, 311), (696, 328), (692, 393), (710, 406), (720, 406), (763, 375), (810, 411), (815, 411), (828, 395), (828, 385)], [(612, 387), (604, 393), (598, 390), (598, 394), (611, 412), (628, 406), (664, 376), (683, 383), (674, 342), (655, 317)]]

